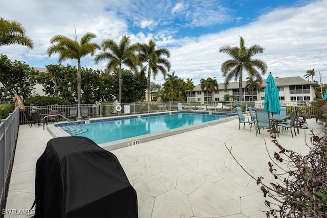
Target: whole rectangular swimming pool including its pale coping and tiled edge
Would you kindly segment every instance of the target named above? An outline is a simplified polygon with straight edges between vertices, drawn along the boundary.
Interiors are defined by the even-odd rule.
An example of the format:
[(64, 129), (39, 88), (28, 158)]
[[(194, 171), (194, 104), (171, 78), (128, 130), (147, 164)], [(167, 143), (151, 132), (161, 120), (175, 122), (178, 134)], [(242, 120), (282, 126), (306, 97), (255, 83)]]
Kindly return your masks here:
[[(156, 138), (222, 123), (228, 117), (235, 118), (235, 115), (216, 112), (178, 111), (75, 122), (78, 127), (72, 123), (62, 123), (54, 126), (60, 128), (60, 132), (65, 132), (65, 136), (85, 136), (102, 147), (116, 147), (117, 144), (121, 144), (119, 146), (121, 148), (124, 147), (122, 144), (131, 146)], [(56, 137), (58, 136), (56, 135)]]

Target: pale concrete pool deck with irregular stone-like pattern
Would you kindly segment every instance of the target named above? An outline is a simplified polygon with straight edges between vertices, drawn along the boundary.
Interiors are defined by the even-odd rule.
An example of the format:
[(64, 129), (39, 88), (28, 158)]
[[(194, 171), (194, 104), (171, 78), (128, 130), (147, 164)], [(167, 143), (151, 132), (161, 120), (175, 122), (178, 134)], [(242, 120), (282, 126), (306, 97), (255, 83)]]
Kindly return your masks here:
[[(310, 130), (322, 126), (308, 119), (310, 129), (279, 134), (286, 149), (307, 154)], [(139, 217), (266, 217), (263, 193), (225, 148), (254, 177), (270, 182), (265, 144), (277, 151), (267, 130), (255, 136), (238, 119), (110, 151), (116, 155), (137, 192)], [(20, 125), (6, 209), (28, 210), (34, 201), (35, 164), (52, 138), (48, 131)], [(272, 153), (273, 154), (273, 153)], [(5, 217), (30, 217), (5, 214)]]

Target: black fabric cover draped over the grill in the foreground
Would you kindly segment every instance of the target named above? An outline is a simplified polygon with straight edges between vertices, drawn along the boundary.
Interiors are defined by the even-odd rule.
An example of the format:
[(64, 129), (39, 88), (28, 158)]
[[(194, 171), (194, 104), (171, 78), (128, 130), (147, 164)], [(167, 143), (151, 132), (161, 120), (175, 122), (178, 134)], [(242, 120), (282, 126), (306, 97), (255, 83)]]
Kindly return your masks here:
[(49, 140), (36, 163), (35, 202), (35, 217), (137, 217), (118, 159), (86, 137)]

